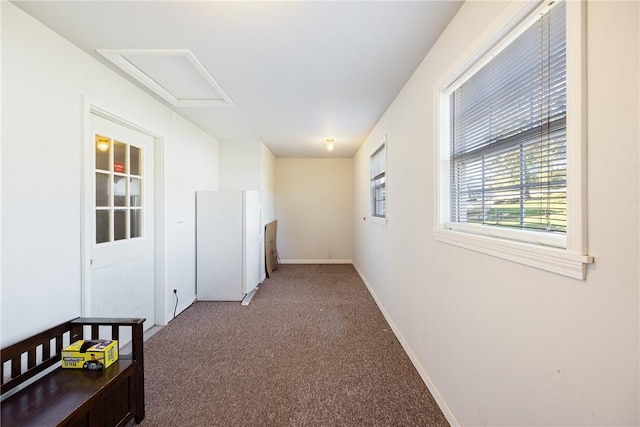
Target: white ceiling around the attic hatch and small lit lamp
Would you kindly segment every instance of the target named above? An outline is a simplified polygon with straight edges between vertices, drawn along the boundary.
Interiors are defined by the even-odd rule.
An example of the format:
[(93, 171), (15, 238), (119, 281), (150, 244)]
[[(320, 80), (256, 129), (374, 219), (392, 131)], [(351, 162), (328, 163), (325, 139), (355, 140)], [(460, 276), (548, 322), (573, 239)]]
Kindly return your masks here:
[(96, 49), (191, 51), (235, 106), (153, 96), (220, 141), (262, 141), (276, 157), (351, 157), (462, 2), (13, 3), (132, 81)]

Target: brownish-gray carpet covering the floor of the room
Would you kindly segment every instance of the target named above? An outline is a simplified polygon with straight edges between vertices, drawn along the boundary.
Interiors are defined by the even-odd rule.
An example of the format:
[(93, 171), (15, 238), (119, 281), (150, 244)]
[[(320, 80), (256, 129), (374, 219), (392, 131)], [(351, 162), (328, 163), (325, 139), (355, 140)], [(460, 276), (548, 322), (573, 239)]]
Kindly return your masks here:
[(145, 342), (147, 426), (446, 426), (351, 265), (281, 265)]

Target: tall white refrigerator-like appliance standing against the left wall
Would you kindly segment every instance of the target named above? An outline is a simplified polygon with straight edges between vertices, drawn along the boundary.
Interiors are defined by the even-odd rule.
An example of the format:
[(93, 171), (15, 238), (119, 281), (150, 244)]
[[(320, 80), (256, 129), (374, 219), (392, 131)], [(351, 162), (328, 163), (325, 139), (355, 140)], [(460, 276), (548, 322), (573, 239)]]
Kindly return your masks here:
[(258, 191), (196, 192), (196, 296), (242, 301), (260, 281)]

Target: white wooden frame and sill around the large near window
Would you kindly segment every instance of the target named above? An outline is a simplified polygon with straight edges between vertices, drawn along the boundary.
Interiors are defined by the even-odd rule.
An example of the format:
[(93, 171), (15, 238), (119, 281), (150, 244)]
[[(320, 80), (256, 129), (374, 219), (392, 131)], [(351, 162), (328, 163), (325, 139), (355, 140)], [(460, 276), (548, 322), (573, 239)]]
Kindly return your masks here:
[(567, 232), (566, 237), (524, 230), (450, 222), (450, 109), (452, 86), (486, 65), (525, 28), (539, 19), (553, 0), (514, 2), (463, 55), (435, 87), (436, 212), (434, 238), (502, 259), (584, 280), (593, 257), (586, 236), (586, 3), (565, 0), (567, 44)]

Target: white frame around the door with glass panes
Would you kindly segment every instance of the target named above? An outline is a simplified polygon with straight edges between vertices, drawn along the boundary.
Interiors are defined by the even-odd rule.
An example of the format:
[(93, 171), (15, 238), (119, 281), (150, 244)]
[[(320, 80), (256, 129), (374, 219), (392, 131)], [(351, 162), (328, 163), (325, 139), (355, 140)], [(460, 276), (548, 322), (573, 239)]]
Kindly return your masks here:
[[(81, 212), (80, 212), (80, 235), (81, 235), (81, 307), (82, 316), (88, 315), (90, 301), (90, 280), (91, 280), (91, 247), (93, 236), (87, 235), (87, 221), (91, 220), (87, 209), (87, 191), (89, 177), (89, 159), (93, 156), (93, 144), (89, 143), (93, 140), (91, 134), (91, 114), (95, 114), (106, 120), (112, 121), (120, 126), (133, 129), (137, 132), (149, 135), (153, 138), (154, 144), (154, 314), (156, 325), (167, 324), (166, 297), (164, 292), (166, 283), (165, 269), (165, 245), (164, 245), (164, 137), (147, 128), (136, 124), (135, 121), (124, 119), (124, 114), (113, 113), (111, 108), (105, 108), (97, 102), (84, 97), (83, 98), (83, 133), (82, 138), (82, 191), (81, 191)], [(93, 165), (92, 165), (93, 166)], [(151, 325), (153, 326), (153, 325)]]

